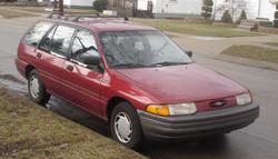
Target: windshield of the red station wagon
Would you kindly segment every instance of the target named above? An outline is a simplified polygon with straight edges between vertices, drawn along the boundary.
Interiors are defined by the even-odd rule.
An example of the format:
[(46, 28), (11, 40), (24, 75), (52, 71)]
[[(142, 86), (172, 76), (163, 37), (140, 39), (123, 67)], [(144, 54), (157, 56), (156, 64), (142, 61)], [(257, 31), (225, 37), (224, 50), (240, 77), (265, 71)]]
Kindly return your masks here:
[(105, 32), (101, 43), (112, 68), (140, 68), (191, 63), (191, 59), (161, 31)]

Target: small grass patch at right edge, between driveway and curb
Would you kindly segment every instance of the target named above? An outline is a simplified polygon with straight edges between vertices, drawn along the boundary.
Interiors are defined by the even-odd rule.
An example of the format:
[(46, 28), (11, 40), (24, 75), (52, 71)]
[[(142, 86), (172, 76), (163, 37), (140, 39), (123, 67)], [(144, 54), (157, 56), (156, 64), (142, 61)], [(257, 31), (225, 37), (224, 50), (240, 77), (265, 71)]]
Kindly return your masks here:
[(221, 52), (222, 54), (248, 58), (252, 60), (278, 63), (278, 50), (256, 46), (232, 46)]

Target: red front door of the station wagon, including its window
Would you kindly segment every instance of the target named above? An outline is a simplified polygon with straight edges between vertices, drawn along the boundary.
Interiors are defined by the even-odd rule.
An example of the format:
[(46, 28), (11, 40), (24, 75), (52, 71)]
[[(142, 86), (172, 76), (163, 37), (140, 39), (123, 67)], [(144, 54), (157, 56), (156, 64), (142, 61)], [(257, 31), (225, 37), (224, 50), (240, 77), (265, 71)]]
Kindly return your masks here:
[(69, 93), (75, 103), (99, 116), (100, 82), (102, 73), (98, 66), (86, 66), (82, 56), (98, 52), (93, 33), (78, 30), (72, 42), (70, 60), (66, 62), (67, 82), (71, 86)]

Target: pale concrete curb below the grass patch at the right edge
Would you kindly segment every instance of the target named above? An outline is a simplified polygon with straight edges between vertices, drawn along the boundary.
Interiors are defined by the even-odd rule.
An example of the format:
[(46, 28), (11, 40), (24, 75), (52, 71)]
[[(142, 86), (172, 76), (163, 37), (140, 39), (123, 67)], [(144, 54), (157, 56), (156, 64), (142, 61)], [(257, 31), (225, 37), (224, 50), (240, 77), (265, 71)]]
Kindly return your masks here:
[(265, 62), (265, 61), (250, 60), (247, 58), (238, 58), (238, 57), (227, 56), (227, 54), (219, 54), (219, 56), (214, 57), (214, 59), (228, 61), (228, 62), (232, 62), (232, 63), (238, 63), (238, 64), (244, 64), (244, 66), (267, 69), (267, 70), (278, 71), (278, 64)]

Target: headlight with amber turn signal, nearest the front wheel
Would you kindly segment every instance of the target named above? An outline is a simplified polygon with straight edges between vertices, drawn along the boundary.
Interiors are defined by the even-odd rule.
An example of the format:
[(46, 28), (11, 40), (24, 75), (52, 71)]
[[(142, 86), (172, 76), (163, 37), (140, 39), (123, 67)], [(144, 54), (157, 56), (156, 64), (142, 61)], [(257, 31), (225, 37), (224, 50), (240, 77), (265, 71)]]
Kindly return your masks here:
[(180, 105), (150, 105), (147, 111), (159, 116), (179, 116), (192, 115), (197, 112), (195, 103), (180, 103)]

